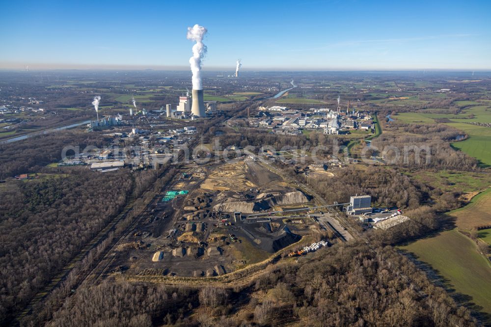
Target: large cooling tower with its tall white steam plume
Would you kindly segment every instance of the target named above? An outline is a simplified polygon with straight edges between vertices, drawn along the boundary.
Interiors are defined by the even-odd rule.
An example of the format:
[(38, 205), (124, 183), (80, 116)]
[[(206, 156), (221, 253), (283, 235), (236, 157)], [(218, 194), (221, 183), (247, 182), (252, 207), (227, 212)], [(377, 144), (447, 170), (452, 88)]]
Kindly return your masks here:
[(205, 104), (203, 102), (203, 83), (201, 81), (201, 59), (206, 54), (206, 46), (203, 37), (207, 30), (198, 24), (188, 27), (187, 38), (196, 41), (192, 46), (192, 57), (189, 59), (192, 72), (192, 106), (191, 113), (198, 117), (205, 116)]

